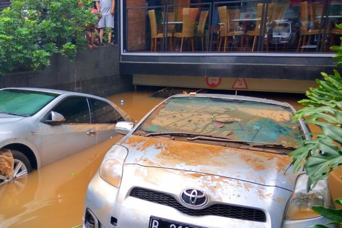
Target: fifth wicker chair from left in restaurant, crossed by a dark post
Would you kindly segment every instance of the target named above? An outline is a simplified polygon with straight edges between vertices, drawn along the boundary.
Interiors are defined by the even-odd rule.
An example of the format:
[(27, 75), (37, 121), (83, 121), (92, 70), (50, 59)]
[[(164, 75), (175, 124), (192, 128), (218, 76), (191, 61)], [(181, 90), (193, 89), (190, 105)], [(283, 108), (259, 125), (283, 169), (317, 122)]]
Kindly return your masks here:
[[(267, 8), (267, 18), (265, 17), (266, 13), (264, 13), (264, 17), (261, 18), (262, 8), (264, 7), (264, 9), (266, 9), (267, 6), (266, 5), (264, 6), (264, 3), (258, 3), (258, 5), (257, 5), (257, 22), (255, 23), (255, 29), (247, 31), (247, 33), (246, 33), (248, 36), (254, 37), (253, 45), (252, 45), (252, 52), (254, 51), (255, 43), (257, 42), (257, 37), (260, 36), (261, 24), (264, 25), (265, 22), (269, 23), (273, 19), (274, 6), (275, 6), (274, 3), (269, 3), (268, 8)], [(267, 26), (264, 26), (263, 28), (266, 31)], [(263, 33), (264, 33), (264, 31), (261, 32), (261, 34), (263, 34)], [(266, 40), (266, 51), (268, 51), (268, 37)]]

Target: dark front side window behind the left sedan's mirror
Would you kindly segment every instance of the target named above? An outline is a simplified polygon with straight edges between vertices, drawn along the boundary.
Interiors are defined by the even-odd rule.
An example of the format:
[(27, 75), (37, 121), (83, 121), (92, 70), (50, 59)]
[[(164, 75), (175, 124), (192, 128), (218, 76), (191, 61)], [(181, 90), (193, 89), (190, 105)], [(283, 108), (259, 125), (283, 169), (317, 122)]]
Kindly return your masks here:
[(52, 111), (61, 113), (64, 123), (90, 123), (87, 98), (69, 97), (58, 104)]

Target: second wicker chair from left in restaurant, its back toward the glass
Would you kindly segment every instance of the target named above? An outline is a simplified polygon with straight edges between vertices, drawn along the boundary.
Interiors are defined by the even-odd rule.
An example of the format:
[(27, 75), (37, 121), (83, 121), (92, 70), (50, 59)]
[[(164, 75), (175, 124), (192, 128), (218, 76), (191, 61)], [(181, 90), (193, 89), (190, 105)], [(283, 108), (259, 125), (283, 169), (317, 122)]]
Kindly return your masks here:
[(182, 38), (180, 51), (183, 50), (184, 38), (191, 38), (192, 51), (194, 49), (194, 37), (195, 37), (195, 19), (198, 14), (198, 8), (183, 8), (183, 28), (182, 32), (175, 32), (173, 36), (176, 38)]

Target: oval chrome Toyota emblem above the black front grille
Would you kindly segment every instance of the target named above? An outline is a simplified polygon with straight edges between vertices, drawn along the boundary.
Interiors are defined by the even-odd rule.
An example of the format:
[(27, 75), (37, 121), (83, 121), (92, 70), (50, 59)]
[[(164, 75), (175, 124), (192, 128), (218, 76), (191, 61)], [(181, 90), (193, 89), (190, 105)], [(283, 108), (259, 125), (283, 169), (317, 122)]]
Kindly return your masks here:
[(187, 206), (200, 207), (207, 203), (208, 197), (202, 190), (187, 188), (182, 191), (181, 200)]

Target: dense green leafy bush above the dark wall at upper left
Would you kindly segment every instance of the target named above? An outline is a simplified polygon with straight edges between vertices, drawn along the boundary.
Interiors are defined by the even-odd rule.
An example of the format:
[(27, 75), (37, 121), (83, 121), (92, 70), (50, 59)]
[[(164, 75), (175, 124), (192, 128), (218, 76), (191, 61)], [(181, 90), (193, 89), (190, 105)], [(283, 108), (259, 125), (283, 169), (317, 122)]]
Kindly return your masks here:
[(92, 0), (14, 0), (0, 12), (0, 75), (39, 70), (60, 53), (69, 59), (97, 23)]

